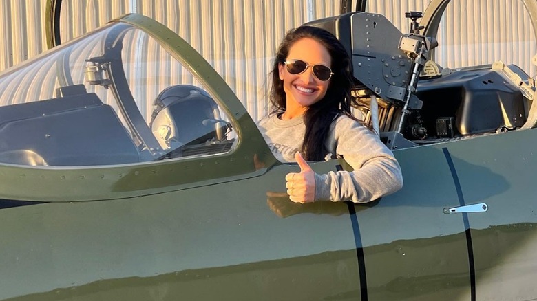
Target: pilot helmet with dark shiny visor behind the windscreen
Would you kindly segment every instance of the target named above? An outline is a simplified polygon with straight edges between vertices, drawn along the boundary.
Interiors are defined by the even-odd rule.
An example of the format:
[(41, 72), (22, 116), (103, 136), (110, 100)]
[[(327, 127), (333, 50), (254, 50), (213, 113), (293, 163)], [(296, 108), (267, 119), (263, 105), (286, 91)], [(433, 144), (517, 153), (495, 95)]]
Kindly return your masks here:
[[(218, 105), (207, 91), (192, 85), (174, 85), (162, 90), (149, 126), (168, 157), (207, 153), (214, 142), (225, 139), (227, 123), (220, 119)], [(191, 146), (191, 147), (189, 147)]]

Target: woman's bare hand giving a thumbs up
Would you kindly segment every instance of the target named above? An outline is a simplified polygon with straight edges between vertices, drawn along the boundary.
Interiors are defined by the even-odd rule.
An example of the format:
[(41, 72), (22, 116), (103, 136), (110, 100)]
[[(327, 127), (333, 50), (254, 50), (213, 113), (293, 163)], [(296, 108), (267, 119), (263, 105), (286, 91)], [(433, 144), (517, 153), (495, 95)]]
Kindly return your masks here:
[(300, 172), (290, 172), (285, 176), (289, 199), (295, 203), (315, 201), (315, 172), (299, 152), (295, 154)]

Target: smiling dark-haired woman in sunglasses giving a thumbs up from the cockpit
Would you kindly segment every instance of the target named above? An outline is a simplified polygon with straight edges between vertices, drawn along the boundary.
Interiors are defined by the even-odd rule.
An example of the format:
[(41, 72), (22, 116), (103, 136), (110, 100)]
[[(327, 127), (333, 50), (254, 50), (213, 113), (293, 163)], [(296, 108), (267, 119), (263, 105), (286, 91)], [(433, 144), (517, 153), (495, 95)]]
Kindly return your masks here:
[[(289, 31), (271, 73), (275, 110), (259, 126), (277, 159), (300, 166), (286, 175), (292, 201), (365, 203), (401, 188), (392, 152), (350, 113), (352, 65), (335, 36), (310, 26)], [(354, 171), (318, 175), (306, 163), (337, 157)]]

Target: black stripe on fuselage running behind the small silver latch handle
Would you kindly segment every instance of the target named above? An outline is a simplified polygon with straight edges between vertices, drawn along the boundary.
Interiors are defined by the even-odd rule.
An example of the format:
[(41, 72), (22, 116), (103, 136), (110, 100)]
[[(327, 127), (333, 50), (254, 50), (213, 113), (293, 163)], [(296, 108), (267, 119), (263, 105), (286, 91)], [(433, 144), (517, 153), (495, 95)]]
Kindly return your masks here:
[[(448, 148), (442, 148), (445, 159), (448, 161), (448, 165), (450, 166), (451, 175), (453, 177), (453, 182), (455, 184), (455, 188), (457, 190), (457, 197), (459, 197), (459, 204), (461, 206), (465, 205), (464, 196), (463, 196), (463, 190), (461, 188), (461, 183), (459, 182), (459, 176), (457, 175), (457, 171), (455, 170), (455, 166), (453, 164), (453, 160), (451, 159), (450, 151)], [(465, 234), (466, 234), (466, 245), (468, 248), (468, 264), (470, 265), (470, 297), (471, 300), (476, 300), (476, 268), (474, 265), (474, 247), (472, 247), (472, 234), (470, 233), (470, 221), (468, 221), (468, 214), (463, 213), (463, 222), (464, 222), (464, 228), (465, 228)]]

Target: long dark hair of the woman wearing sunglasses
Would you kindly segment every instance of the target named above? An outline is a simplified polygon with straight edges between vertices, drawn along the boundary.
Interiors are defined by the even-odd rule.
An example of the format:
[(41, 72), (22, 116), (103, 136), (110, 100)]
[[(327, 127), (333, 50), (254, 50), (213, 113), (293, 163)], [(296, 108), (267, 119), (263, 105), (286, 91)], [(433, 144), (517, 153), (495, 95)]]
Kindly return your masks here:
[(312, 104), (306, 110), (304, 123), (306, 124), (306, 133), (302, 143), (302, 155), (309, 161), (320, 161), (328, 154), (325, 142), (330, 131), (330, 124), (339, 115), (348, 115), (350, 113), (352, 102), (350, 89), (352, 87), (352, 62), (345, 48), (333, 34), (322, 30), (321, 28), (311, 26), (300, 26), (289, 30), (278, 47), (278, 52), (274, 60), (271, 86), (271, 102), (275, 107), (274, 111), (286, 110), (286, 93), (284, 91), (284, 82), (280, 80), (278, 67), (286, 60), (289, 49), (293, 44), (302, 39), (311, 38), (326, 47), (332, 60), (332, 69), (334, 75), (330, 78), (330, 84), (324, 98)]

